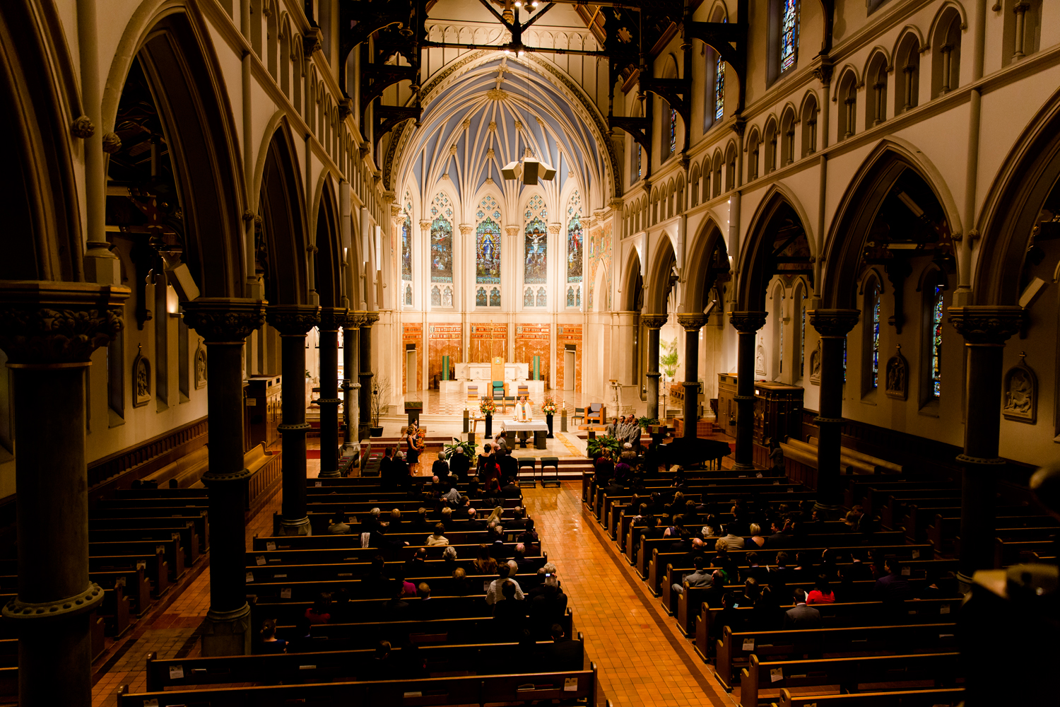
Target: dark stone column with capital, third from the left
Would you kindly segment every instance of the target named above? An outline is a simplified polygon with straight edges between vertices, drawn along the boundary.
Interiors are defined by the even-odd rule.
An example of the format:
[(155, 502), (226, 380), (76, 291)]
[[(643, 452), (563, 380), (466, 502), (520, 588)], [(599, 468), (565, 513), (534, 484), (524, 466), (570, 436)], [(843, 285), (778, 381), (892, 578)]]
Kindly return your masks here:
[(266, 319), (280, 332), (283, 373), (283, 421), (277, 428), (283, 437), (283, 508), (280, 529), (284, 535), (311, 535), (305, 514), (305, 335), (320, 316), (320, 307), (275, 304)]

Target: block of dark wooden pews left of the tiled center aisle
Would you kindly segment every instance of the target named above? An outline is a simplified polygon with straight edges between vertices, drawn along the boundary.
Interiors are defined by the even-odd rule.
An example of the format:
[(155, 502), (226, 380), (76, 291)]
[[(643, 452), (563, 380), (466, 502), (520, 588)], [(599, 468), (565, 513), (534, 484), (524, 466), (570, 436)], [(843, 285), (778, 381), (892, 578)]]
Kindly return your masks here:
[[(561, 701), (561, 704), (596, 705), (597, 668), (586, 666), (581, 635), (576, 633), (568, 606), (554, 620), (564, 634), (576, 637), (577, 665), (561, 665), (548, 649), (547, 626), (529, 617), (533, 634), (518, 641), (498, 628), (485, 590), (497, 575), (477, 575), (474, 561), (482, 544), (494, 556), (512, 558), (523, 532), (511, 529), (499, 538), (485, 530), (464, 529), (466, 520), (449, 519), (448, 546), (428, 546), (440, 509), (428, 502), (426, 488), (410, 491), (384, 489), (377, 478), (313, 479), (307, 509), (314, 534), (255, 536), (245, 556), (247, 599), (251, 625), (266, 619), (277, 624), (276, 635), (293, 641), (298, 652), (246, 656), (159, 658), (147, 657), (146, 692), (120, 690), (120, 707), (176, 707), (211, 705), (465, 705)], [(472, 505), (476, 499), (472, 500)], [(501, 522), (516, 519), (520, 498), (505, 498)], [(387, 528), (379, 547), (361, 547), (361, 533), (371, 533), (373, 508), (388, 519), (391, 509), (402, 511), (396, 529)], [(425, 517), (419, 518), (420, 509)], [(478, 507), (480, 518), (492, 509)], [(458, 517), (460, 509), (453, 516)], [(329, 534), (336, 514), (350, 526), (346, 534)], [(367, 523), (366, 523), (367, 522)], [(423, 524), (430, 526), (425, 530)], [(483, 524), (484, 525), (484, 524)], [(405, 545), (407, 543), (407, 545)], [(524, 593), (543, 582), (537, 569), (548, 561), (542, 543), (527, 545), (514, 579)], [(446, 547), (457, 552), (445, 559)], [(393, 605), (378, 570), (389, 579), (430, 586), (430, 599), (406, 597), (407, 607)], [(409, 562), (413, 561), (413, 562)], [(465, 577), (454, 576), (462, 568)], [(301, 635), (306, 609), (321, 593), (341, 596), (331, 604), (332, 619), (316, 623)], [(529, 602), (527, 602), (529, 604)], [(545, 615), (545, 620), (552, 620)], [(544, 633), (543, 633), (544, 630)], [(375, 660), (379, 641), (389, 641), (398, 665), (425, 664), (419, 674), (381, 674)], [(406, 664), (406, 654), (408, 664)], [(536, 657), (535, 657), (536, 656)], [(416, 665), (420, 665), (416, 662)], [(610, 703), (608, 703), (610, 704)]]

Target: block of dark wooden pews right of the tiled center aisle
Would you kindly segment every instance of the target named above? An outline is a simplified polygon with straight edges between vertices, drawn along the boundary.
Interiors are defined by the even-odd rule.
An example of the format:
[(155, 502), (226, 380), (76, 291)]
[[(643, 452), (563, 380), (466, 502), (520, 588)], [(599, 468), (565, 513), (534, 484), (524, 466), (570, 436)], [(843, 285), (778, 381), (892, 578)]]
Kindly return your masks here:
[[(686, 471), (685, 479), (684, 501), (711, 505), (723, 525), (734, 519), (728, 511), (738, 500), (776, 514), (781, 509), (798, 511), (814, 497), (812, 491), (787, 478), (759, 477), (754, 472), (740, 476), (729, 470)], [(677, 538), (657, 536), (669, 522), (664, 520), (656, 536), (644, 535), (648, 526), (636, 520), (637, 506), (652, 497), (670, 506), (675, 493), (671, 476), (649, 478), (635, 496), (630, 489), (598, 485), (593, 475), (586, 475), (582, 491), (586, 507), (678, 630), (694, 641), (700, 657), (713, 664), (717, 679), (738, 695), (742, 707), (771, 703), (780, 707), (926, 707), (956, 705), (964, 699), (955, 638), (961, 603), (954, 578), (957, 567), (940, 553), (959, 538), (954, 535), (955, 524), (938, 523), (939, 517), (950, 517), (942, 514), (951, 510), (959, 515), (956, 483), (920, 481), (905, 474), (851, 476), (845, 503), (848, 509), (861, 506), (867, 516), (879, 518), (873, 532), (853, 531), (843, 522), (818, 520), (803, 525), (799, 534), (785, 538), (779, 548), (768, 543), (759, 548), (745, 538), (744, 549), (727, 550), (723, 559), (737, 570), (737, 578), (724, 587), (730, 597), (742, 597), (744, 578), (756, 576), (748, 553), (756, 552), (760, 565), (776, 565), (777, 552), (783, 550), (789, 566), (794, 566), (798, 553), (817, 563), (826, 549), (837, 559), (832, 567), (850, 576), (855, 576), (854, 559), (894, 561), (917, 597), (897, 604), (876, 600), (874, 578), (833, 583), (836, 603), (814, 605), (820, 612), (820, 628), (787, 631), (757, 625), (760, 615), (754, 606), (723, 607), (720, 591), (689, 586), (684, 578), (694, 571), (691, 553), (671, 550)], [(999, 566), (1014, 562), (1022, 550), (1040, 547), (1023, 543), (1048, 541), (1057, 530), (1055, 522), (1025, 506), (1000, 503), (999, 513), (1006, 523), (999, 523)], [(936, 519), (937, 527), (928, 537), (926, 530), (918, 532), (906, 525), (920, 508), (929, 509), (929, 517)], [(693, 537), (700, 536), (701, 527), (688, 524)], [(768, 536), (770, 531), (763, 528), (762, 535)], [(713, 541), (707, 542), (703, 554), (708, 565), (721, 562)], [(684, 593), (673, 591), (674, 584), (683, 586)], [(790, 591), (796, 587), (809, 591), (813, 585), (810, 577), (785, 578), (779, 590), (788, 600), (777, 609), (793, 607)]]

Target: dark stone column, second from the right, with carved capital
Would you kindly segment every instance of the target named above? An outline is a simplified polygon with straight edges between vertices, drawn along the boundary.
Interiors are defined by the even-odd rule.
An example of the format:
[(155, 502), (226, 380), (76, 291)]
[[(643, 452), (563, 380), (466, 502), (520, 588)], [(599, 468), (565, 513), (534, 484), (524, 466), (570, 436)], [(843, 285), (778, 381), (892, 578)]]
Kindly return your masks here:
[(811, 310), (810, 323), (820, 334), (820, 402), (817, 404), (818, 515), (833, 519), (843, 497), (840, 485), (840, 447), (843, 427), (843, 350), (847, 334), (858, 323), (858, 310)]

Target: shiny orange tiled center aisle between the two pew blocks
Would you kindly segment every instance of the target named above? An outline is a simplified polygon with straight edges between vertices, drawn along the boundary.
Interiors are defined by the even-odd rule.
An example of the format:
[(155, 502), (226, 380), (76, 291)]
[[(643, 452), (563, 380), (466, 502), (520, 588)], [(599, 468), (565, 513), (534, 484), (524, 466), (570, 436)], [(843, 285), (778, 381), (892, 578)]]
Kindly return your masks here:
[(601, 700), (616, 707), (736, 704), (584, 510), (580, 481), (524, 489), (523, 496), (569, 597), (575, 631), (597, 664)]

